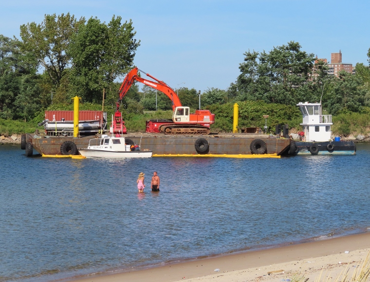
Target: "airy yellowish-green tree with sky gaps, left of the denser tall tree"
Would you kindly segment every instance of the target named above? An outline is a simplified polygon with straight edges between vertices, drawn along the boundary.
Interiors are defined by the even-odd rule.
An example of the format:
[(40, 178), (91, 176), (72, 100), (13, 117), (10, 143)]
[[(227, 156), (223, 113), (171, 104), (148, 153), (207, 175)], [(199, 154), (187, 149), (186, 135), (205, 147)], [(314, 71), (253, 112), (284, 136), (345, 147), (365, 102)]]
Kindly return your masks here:
[(77, 33), (79, 26), (85, 23), (85, 18), (78, 21), (74, 15), (45, 15), (40, 24), (35, 22), (20, 26), (20, 49), (32, 52), (38, 63), (45, 68), (53, 85), (57, 88), (64, 75), (65, 68), (71, 63), (67, 52), (71, 37)]

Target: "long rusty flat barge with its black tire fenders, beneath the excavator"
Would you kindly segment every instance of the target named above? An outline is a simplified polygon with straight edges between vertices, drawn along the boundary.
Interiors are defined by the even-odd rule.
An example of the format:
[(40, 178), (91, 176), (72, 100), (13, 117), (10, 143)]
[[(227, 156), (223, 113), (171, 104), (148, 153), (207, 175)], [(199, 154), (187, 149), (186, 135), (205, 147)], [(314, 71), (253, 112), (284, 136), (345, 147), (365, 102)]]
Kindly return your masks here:
[[(100, 135), (96, 135), (100, 138)], [(40, 155), (79, 155), (86, 149), (92, 136), (44, 136), (27, 134), (23, 148), (26, 156), (34, 151)], [(138, 144), (141, 150), (153, 152), (153, 156), (212, 156), (212, 155), (276, 155), (291, 150), (290, 139), (266, 134), (211, 134), (172, 136), (165, 134), (136, 133), (125, 136), (127, 144)], [(22, 145), (21, 145), (22, 146)]]

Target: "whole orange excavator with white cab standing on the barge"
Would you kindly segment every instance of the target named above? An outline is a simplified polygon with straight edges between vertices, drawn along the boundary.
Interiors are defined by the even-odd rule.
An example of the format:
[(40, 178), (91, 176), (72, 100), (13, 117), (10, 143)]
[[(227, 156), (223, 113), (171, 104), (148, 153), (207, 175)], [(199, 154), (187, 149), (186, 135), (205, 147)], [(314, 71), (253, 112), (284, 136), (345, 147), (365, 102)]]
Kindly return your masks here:
[(126, 127), (122, 120), (122, 114), (119, 111), (123, 97), (129, 91), (129, 88), (135, 81), (148, 85), (151, 88), (157, 89), (167, 95), (172, 102), (172, 120), (149, 120), (147, 121), (146, 132), (164, 133), (164, 134), (209, 134), (210, 124), (215, 123), (215, 115), (209, 110), (196, 110), (194, 114), (190, 113), (190, 108), (182, 106), (176, 92), (173, 91), (165, 82), (156, 79), (148, 73), (148, 77), (154, 81), (144, 79), (137, 75), (137, 72), (144, 71), (134, 68), (129, 71), (121, 87), (119, 88), (119, 99), (116, 102), (116, 112), (114, 113), (112, 130), (113, 133), (126, 133)]

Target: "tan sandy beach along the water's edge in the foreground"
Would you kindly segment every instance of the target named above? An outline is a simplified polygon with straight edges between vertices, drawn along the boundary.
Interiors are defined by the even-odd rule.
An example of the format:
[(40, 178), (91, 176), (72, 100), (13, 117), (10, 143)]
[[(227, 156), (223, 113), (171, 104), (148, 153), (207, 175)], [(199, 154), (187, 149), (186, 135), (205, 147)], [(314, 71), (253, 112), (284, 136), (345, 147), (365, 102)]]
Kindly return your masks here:
[[(248, 251), (213, 258), (169, 264), (144, 270), (104, 273), (75, 278), (79, 282), (228, 282), (287, 281), (304, 275), (314, 281), (321, 270), (335, 277), (346, 267), (351, 277), (357, 264), (370, 250), (370, 232), (289, 246)], [(215, 272), (215, 269), (220, 271)], [(304, 279), (304, 280), (305, 280)], [(304, 281), (303, 280), (303, 281)], [(289, 281), (289, 280), (288, 280)], [(302, 281), (302, 282), (303, 282)]]

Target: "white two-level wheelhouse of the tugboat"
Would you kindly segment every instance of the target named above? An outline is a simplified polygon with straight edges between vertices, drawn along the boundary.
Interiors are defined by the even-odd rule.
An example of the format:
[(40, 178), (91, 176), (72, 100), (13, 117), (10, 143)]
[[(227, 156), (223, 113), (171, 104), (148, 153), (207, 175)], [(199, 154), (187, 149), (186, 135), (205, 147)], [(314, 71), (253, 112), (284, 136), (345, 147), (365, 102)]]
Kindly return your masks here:
[(298, 103), (303, 116), (303, 141), (329, 141), (332, 138), (332, 115), (323, 115), (321, 103)]

